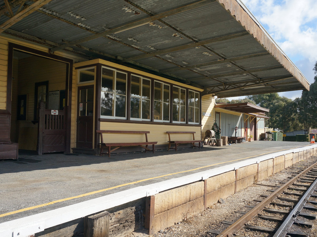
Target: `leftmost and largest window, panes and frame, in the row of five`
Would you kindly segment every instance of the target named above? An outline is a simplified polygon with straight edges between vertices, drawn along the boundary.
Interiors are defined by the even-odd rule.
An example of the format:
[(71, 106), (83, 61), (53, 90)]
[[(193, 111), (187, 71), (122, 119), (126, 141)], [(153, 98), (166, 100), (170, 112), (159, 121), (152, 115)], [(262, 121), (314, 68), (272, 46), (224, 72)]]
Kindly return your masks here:
[(101, 118), (126, 118), (127, 74), (102, 67)]

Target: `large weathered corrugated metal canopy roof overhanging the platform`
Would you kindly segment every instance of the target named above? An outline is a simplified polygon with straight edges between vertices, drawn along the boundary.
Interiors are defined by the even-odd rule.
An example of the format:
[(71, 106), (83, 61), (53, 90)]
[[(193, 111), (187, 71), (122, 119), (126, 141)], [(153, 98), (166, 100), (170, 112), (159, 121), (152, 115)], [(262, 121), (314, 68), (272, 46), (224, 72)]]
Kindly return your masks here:
[(240, 0), (0, 0), (0, 33), (220, 97), (309, 89)]

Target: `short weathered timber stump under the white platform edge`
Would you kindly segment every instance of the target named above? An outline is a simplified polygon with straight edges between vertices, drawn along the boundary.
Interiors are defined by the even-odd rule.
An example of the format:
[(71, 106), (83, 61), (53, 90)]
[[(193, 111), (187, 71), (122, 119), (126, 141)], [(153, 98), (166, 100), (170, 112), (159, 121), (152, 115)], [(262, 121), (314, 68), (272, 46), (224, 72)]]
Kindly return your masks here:
[(85, 216), (84, 237), (108, 237), (109, 236), (109, 212)]

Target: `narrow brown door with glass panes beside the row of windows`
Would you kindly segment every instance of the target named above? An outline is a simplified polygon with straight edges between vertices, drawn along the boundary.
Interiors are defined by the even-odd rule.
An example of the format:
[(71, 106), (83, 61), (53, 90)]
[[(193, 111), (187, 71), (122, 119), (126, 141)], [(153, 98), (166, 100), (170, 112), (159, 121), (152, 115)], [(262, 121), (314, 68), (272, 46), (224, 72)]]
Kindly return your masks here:
[(93, 148), (94, 86), (78, 87), (77, 148)]

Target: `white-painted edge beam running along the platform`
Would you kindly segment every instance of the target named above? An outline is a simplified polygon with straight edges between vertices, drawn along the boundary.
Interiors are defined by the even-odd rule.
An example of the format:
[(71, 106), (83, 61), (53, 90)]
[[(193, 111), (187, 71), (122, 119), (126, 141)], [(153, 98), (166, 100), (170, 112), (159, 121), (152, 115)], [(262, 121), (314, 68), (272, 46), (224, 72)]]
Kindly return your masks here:
[(317, 144), (290, 149), (286, 151), (279, 151), (276, 153), (251, 158), (224, 165), (221, 167), (212, 168), (210, 170), (201, 171), (195, 174), (190, 174), (170, 180), (153, 183), (146, 186), (139, 186), (132, 189), (120, 191), (118, 193), (109, 194), (99, 198), (94, 198), (85, 202), (72, 204), (66, 207), (57, 208), (47, 212), (23, 217), (20, 219), (0, 223), (1, 237), (27, 237), (31, 234), (43, 231), (46, 228), (53, 227), (68, 221), (72, 221), (87, 215), (94, 214), (112, 207), (132, 202), (139, 198), (150, 195), (155, 195), (159, 192), (177, 188), (188, 183), (193, 183), (199, 180), (204, 180), (212, 176), (216, 176), (231, 170), (248, 166), (251, 164), (260, 163), (261, 161), (272, 159), (288, 153), (296, 153), (317, 147)]

